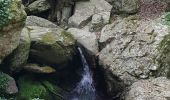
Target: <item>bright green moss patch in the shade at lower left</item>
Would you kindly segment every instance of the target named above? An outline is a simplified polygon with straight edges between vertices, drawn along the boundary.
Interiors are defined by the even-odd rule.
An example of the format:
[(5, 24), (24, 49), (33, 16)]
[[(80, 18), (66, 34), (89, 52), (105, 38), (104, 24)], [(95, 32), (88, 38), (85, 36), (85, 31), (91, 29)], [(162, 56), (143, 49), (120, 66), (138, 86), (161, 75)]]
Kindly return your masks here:
[(34, 98), (49, 99), (49, 93), (46, 88), (39, 82), (29, 76), (21, 77), (18, 81), (19, 93), (17, 100), (32, 100)]

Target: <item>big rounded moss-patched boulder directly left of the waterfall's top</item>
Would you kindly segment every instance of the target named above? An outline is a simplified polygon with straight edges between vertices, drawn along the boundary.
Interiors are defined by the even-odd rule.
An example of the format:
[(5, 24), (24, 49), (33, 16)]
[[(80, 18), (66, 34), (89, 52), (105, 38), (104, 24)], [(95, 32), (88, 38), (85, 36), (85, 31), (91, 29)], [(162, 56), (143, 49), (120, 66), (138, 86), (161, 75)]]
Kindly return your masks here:
[(61, 28), (29, 26), (31, 37), (30, 59), (41, 64), (61, 68), (75, 54), (75, 40)]

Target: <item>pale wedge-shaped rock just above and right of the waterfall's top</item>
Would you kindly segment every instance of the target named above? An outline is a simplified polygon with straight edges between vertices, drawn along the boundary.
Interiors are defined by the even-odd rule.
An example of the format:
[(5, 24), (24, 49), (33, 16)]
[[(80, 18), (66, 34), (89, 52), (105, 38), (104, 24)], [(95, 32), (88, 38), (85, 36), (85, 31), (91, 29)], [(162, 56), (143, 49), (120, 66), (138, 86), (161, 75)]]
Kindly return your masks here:
[(69, 28), (68, 32), (77, 40), (77, 44), (83, 48), (89, 65), (96, 67), (96, 55), (98, 54), (98, 42), (94, 33), (78, 28)]

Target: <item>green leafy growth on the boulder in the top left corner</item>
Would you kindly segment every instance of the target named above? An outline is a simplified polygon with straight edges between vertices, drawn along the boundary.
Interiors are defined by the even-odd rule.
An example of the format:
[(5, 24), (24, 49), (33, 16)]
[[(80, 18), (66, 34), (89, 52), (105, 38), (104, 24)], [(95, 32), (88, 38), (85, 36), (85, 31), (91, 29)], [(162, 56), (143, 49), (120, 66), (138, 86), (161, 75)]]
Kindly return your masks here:
[(10, 3), (12, 0), (0, 0), (0, 28), (7, 25), (10, 21)]

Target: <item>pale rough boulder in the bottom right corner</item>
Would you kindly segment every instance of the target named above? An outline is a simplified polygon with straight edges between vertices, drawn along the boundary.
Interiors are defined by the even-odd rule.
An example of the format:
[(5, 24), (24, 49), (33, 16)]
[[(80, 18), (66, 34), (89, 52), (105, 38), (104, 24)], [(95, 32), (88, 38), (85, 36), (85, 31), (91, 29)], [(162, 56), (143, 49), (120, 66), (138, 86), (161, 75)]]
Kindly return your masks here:
[(125, 100), (169, 100), (170, 80), (159, 77), (150, 80), (140, 80), (130, 86)]

